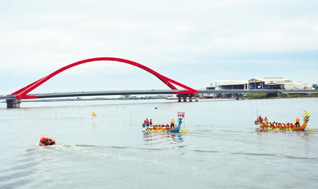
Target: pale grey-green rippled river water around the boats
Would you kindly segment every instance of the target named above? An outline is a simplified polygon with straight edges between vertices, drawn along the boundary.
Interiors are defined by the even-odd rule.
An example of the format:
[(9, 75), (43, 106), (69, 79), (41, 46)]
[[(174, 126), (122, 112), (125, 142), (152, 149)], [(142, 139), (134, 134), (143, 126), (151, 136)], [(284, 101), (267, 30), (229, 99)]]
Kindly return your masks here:
[[(317, 105), (318, 98), (0, 103), (0, 188), (317, 189), (317, 132), (254, 125), (257, 114), (294, 122), (305, 109), (318, 130)], [(142, 132), (143, 119), (167, 124), (177, 111), (190, 134)], [(39, 147), (41, 135), (57, 145)]]

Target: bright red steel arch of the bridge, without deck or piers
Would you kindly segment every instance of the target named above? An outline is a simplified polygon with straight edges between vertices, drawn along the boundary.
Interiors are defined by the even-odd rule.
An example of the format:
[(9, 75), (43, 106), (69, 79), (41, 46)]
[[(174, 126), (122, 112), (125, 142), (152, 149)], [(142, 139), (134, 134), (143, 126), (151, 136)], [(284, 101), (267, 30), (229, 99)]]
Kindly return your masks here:
[[(71, 68), (74, 67), (76, 65), (79, 64), (83, 64), (83, 63), (89, 63), (89, 62), (95, 62), (95, 61), (116, 61), (116, 62), (121, 62), (121, 63), (127, 63), (127, 64), (131, 64), (134, 65), (136, 67), (139, 67), (151, 74), (153, 74), (154, 76), (156, 76), (158, 79), (160, 79), (164, 84), (166, 84), (169, 88), (173, 89), (173, 90), (177, 90), (177, 88), (175, 87), (175, 85), (182, 87), (184, 89), (186, 89), (187, 91), (181, 91), (175, 94), (197, 94), (198, 91), (195, 89), (192, 89), (186, 85), (183, 85), (173, 79), (167, 78), (161, 74), (159, 74), (158, 72), (154, 71), (153, 69), (150, 69), (149, 67), (146, 67), (140, 63), (136, 63), (133, 61), (129, 61), (126, 59), (121, 59), (121, 58), (113, 58), (113, 57), (99, 57), (99, 58), (91, 58), (91, 59), (86, 59), (86, 60), (82, 60), (76, 63), (71, 63), (69, 65), (66, 65), (58, 70), (56, 70), (55, 72), (37, 80), (34, 81), (33, 83), (17, 90), (16, 92), (12, 93), (12, 95), (15, 95), (16, 98), (18, 99), (32, 99), (32, 98), (38, 98), (36, 96), (32, 96), (32, 95), (27, 95), (28, 93), (30, 93), (32, 90), (34, 90), (35, 88), (39, 87), (40, 85), (42, 85), (44, 82), (46, 82), (48, 79), (51, 79), (52, 77), (54, 77), (55, 75)], [(175, 85), (173, 85), (175, 84)]]

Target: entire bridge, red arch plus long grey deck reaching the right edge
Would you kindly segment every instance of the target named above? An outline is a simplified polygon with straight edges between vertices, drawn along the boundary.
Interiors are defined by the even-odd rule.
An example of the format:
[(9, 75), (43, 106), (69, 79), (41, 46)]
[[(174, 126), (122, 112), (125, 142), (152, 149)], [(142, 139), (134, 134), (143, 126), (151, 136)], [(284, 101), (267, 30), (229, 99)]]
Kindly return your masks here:
[[(134, 65), (136, 67), (139, 67), (154, 76), (156, 76), (158, 79), (160, 79), (164, 84), (166, 84), (171, 90), (143, 90), (143, 91), (104, 91), (104, 92), (80, 92), (80, 93), (54, 93), (54, 94), (29, 94), (32, 92), (35, 88), (39, 87), (52, 77), (56, 76), (57, 74), (74, 67), (79, 64), (83, 63), (89, 63), (89, 62), (96, 62), (96, 61), (115, 61), (115, 62), (121, 62), (121, 63), (127, 63)], [(178, 89), (177, 87), (181, 88)], [(69, 65), (66, 65), (53, 73), (38, 79), (31, 84), (17, 90), (16, 92), (7, 95), (7, 96), (0, 96), (1, 99), (5, 99), (7, 103), (7, 108), (19, 108), (21, 99), (37, 99), (37, 98), (54, 98), (54, 97), (72, 97), (72, 96), (100, 96), (100, 95), (123, 95), (123, 94), (177, 94), (178, 101), (181, 102), (181, 99), (183, 99), (184, 102), (187, 101), (187, 98), (189, 98), (189, 101), (192, 101), (192, 98), (195, 98), (195, 101), (198, 100), (199, 94), (236, 94), (237, 99), (239, 97), (243, 97), (244, 94), (248, 93), (318, 93), (317, 90), (307, 90), (307, 91), (299, 91), (299, 90), (195, 90), (191, 87), (188, 87), (184, 84), (181, 84), (173, 79), (167, 78), (158, 72), (150, 69), (149, 67), (146, 67), (140, 63), (136, 63), (133, 61), (129, 61), (126, 59), (121, 58), (112, 58), (112, 57), (100, 57), (100, 58), (92, 58), (92, 59), (86, 59), (82, 60), (76, 63), (71, 63)]]

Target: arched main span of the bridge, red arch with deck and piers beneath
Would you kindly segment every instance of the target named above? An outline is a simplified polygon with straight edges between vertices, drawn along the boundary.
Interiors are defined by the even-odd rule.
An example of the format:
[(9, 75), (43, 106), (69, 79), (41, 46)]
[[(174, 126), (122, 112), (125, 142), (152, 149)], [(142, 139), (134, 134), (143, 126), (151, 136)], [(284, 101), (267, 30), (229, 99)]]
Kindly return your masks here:
[[(29, 94), (34, 89), (48, 81), (49, 79), (53, 78), (57, 74), (60, 74), (61, 72), (64, 72), (67, 69), (70, 69), (74, 66), (77, 66), (79, 64), (83, 63), (90, 63), (90, 62), (96, 62), (96, 61), (115, 61), (115, 62), (121, 62), (121, 63), (127, 63), (134, 65), (136, 67), (139, 67), (152, 75), (156, 76), (158, 79), (160, 79), (164, 84), (166, 84), (171, 90), (144, 90), (144, 91), (104, 91), (104, 92), (81, 92), (81, 93), (54, 93), (54, 94)], [(182, 89), (178, 89), (182, 88)], [(69, 65), (66, 65), (51, 74), (36, 80), (32, 82), (31, 84), (17, 90), (16, 92), (0, 97), (0, 99), (6, 99), (7, 108), (19, 108), (21, 99), (36, 99), (36, 98), (54, 98), (54, 97), (71, 97), (71, 96), (94, 96), (94, 95), (123, 95), (123, 94), (177, 94), (179, 101), (181, 101), (181, 98), (186, 101), (187, 97), (192, 101), (192, 98), (198, 94), (198, 91), (195, 89), (192, 89), (191, 87), (188, 87), (184, 84), (181, 84), (173, 79), (167, 78), (158, 72), (154, 71), (153, 69), (150, 69), (149, 67), (142, 65), (140, 63), (136, 63), (133, 61), (129, 61), (126, 59), (121, 58), (113, 58), (113, 57), (99, 57), (99, 58), (92, 58), (92, 59), (86, 59), (82, 60), (76, 63), (71, 63)]]

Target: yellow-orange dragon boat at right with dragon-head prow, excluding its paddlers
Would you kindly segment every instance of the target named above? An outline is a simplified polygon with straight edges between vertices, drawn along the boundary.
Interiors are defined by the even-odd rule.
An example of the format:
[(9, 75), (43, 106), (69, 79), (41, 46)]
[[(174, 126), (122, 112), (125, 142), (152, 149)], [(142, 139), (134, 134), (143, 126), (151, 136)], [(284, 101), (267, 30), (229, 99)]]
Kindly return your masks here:
[(294, 126), (294, 127), (273, 127), (273, 126), (266, 126), (263, 122), (263, 120), (261, 119), (260, 120), (260, 116), (257, 117), (257, 120), (255, 120), (255, 125), (258, 125), (261, 129), (268, 129), (268, 130), (292, 130), (292, 131), (303, 131), (306, 126), (307, 126), (307, 123), (309, 121), (309, 117), (310, 117), (310, 112), (309, 111), (305, 111), (303, 110), (303, 124), (300, 125), (300, 126)]

